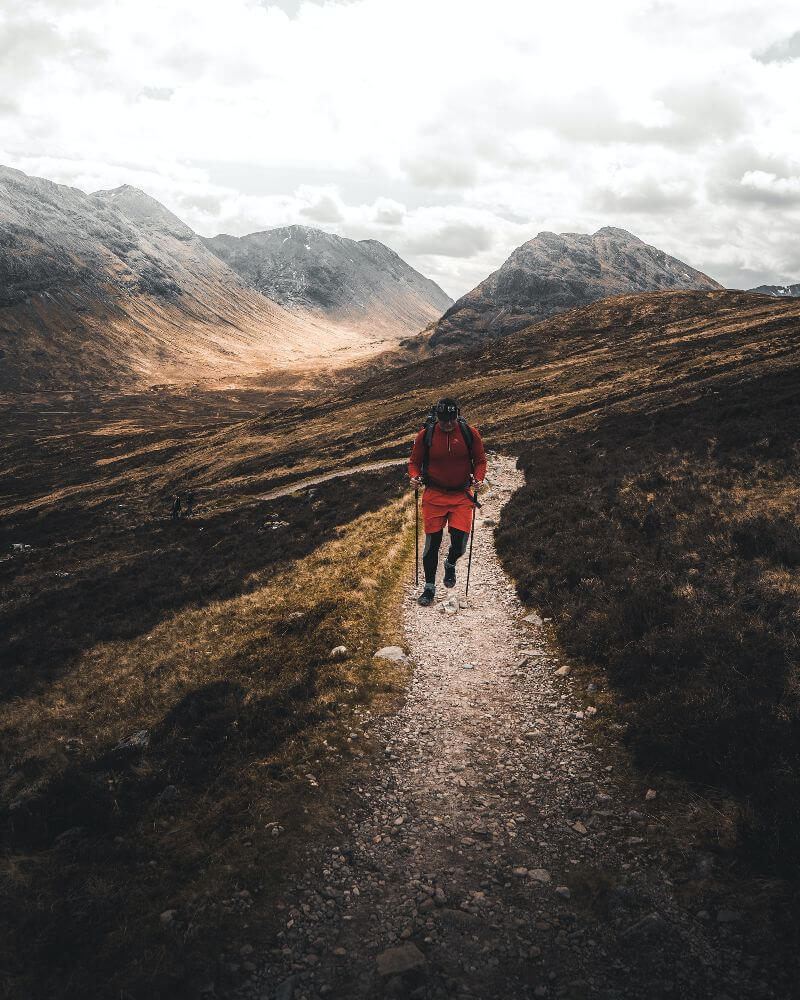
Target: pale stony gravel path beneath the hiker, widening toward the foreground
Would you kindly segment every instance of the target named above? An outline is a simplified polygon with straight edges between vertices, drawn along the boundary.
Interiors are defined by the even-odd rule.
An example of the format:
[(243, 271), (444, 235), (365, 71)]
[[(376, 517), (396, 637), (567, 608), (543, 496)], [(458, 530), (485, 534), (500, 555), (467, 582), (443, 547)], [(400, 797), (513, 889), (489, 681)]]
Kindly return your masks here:
[[(430, 608), (406, 588), (407, 699), (364, 734), (385, 764), (342, 804), (341, 843), (289, 878), (278, 940), (243, 949), (236, 996), (778, 996), (740, 948), (741, 914), (679, 905), (653, 795), (631, 801), (591, 743), (585, 693), (499, 564), (493, 525), (522, 473), (493, 455), (489, 478), (469, 606), (446, 607), (466, 556)], [(702, 878), (713, 861), (695, 861)]]

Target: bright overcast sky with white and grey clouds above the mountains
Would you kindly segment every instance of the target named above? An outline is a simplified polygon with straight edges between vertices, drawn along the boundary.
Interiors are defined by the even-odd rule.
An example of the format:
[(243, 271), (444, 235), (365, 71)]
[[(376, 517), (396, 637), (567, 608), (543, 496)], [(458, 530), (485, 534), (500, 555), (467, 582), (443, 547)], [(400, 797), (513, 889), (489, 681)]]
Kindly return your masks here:
[(800, 281), (800, 7), (3, 0), (0, 162), (197, 232), (382, 240), (453, 296), (542, 230)]

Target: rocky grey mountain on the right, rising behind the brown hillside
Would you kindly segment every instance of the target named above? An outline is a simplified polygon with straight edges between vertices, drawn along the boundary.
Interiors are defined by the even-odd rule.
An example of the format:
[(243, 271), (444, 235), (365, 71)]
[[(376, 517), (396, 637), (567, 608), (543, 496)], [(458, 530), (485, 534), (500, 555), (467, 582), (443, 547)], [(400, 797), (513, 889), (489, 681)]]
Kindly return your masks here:
[(499, 337), (554, 313), (629, 292), (720, 289), (701, 271), (624, 229), (539, 233), (458, 299), (424, 339), (431, 349)]

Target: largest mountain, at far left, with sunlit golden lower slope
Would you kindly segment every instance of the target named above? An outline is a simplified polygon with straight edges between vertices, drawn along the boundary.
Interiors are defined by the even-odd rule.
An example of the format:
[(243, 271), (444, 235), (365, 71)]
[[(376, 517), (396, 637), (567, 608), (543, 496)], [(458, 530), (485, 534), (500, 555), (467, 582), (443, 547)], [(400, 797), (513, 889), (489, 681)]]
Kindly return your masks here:
[[(299, 299), (284, 308), (137, 188), (86, 194), (0, 167), (0, 391), (188, 383), (370, 357), (441, 310), (433, 282), (390, 250), (370, 244), (361, 255), (373, 265), (369, 287), (357, 275), (348, 286), (357, 321), (344, 300), (330, 316)], [(394, 297), (384, 288), (383, 307), (381, 260), (384, 283), (402, 285)], [(359, 268), (369, 270), (360, 259)]]

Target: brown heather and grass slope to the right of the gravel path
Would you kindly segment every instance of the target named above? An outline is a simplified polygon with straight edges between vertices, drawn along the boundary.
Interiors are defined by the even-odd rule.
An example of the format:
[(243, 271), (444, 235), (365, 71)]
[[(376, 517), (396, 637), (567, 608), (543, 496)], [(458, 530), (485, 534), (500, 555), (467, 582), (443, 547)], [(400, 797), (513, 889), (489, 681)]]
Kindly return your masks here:
[[(403, 455), (464, 402), (528, 485), (498, 547), (520, 594), (615, 686), (643, 764), (739, 796), (751, 856), (792, 870), (798, 787), (800, 303), (621, 296), (485, 349), (374, 376), (350, 398), (226, 431), (265, 472)], [(191, 460), (187, 460), (189, 465)]]

